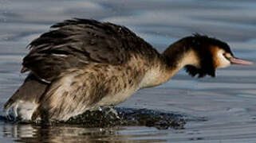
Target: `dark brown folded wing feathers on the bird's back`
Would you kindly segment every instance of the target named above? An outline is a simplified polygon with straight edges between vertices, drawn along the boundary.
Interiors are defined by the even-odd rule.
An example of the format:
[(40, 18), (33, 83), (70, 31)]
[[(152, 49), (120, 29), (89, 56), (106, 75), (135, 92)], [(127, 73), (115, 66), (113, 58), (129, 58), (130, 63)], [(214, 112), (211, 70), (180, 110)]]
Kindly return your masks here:
[(24, 69), (30, 69), (47, 81), (69, 68), (92, 62), (123, 64), (131, 52), (144, 54), (148, 50), (150, 53), (146, 55), (156, 52), (150, 44), (120, 25), (74, 19), (52, 28), (30, 43), (31, 51), (23, 59)]

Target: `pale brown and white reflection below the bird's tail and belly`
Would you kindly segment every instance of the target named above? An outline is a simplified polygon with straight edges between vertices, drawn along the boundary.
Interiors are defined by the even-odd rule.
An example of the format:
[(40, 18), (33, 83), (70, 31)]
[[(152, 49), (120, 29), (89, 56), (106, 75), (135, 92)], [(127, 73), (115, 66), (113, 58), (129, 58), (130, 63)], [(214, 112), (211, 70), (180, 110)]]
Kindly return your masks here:
[[(35, 126), (18, 124), (3, 126), (4, 137), (18, 138), (19, 142), (94, 142), (116, 135), (116, 129), (87, 129), (83, 126)], [(109, 142), (112, 142), (111, 140)]]

